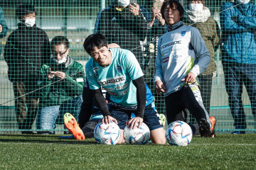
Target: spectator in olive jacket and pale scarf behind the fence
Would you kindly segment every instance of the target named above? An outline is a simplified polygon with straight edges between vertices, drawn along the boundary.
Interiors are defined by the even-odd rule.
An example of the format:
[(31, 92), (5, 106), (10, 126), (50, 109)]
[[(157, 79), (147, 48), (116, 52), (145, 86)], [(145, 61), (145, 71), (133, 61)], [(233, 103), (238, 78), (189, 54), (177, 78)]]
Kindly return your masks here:
[(206, 42), (210, 53), (210, 64), (205, 72), (198, 76), (201, 85), (201, 96), (206, 111), (210, 113), (210, 94), (213, 78), (216, 77), (215, 51), (218, 49), (220, 28), (218, 23), (210, 16), (210, 10), (205, 6), (204, 0), (188, 0), (185, 8), (184, 23), (198, 28), (199, 33)]

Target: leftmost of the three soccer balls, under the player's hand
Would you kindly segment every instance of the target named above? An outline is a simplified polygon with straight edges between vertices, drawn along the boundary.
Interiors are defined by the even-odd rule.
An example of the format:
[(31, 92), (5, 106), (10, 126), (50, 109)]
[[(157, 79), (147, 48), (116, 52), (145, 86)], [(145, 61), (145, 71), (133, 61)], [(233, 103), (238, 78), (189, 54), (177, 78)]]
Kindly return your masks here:
[(95, 140), (99, 144), (116, 145), (120, 135), (119, 126), (112, 121), (108, 125), (99, 123), (94, 130)]

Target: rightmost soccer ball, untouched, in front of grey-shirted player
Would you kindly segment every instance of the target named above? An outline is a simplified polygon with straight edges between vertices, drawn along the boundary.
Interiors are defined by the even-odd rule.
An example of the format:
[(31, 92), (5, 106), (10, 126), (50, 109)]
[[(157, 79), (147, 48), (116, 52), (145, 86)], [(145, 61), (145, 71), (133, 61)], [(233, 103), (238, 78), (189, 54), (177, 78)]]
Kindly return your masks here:
[(192, 140), (192, 130), (183, 121), (174, 121), (166, 129), (166, 140), (170, 145), (187, 146)]

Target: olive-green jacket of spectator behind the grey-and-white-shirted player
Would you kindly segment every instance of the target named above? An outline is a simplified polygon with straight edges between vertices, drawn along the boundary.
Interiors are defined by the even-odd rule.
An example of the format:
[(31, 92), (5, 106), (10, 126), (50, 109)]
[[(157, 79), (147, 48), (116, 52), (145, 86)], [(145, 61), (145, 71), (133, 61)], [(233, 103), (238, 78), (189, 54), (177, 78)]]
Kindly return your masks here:
[[(184, 22), (186, 25), (188, 25), (186, 19), (184, 20)], [(198, 28), (199, 33), (201, 33), (203, 41), (206, 42), (206, 47), (210, 53), (210, 64), (206, 69), (206, 72), (203, 72), (203, 75), (212, 74), (216, 71), (214, 56), (215, 50), (218, 49), (220, 42), (220, 28), (218, 27), (218, 23), (212, 17), (209, 17), (206, 22), (192, 23), (191, 26)]]

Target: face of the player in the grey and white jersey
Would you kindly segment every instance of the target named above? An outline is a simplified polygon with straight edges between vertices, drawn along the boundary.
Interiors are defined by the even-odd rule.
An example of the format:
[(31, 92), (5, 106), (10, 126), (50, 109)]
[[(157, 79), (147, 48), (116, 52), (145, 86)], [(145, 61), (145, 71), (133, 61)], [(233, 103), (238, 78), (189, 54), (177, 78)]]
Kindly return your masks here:
[(178, 23), (178, 21), (181, 21), (181, 16), (176, 7), (170, 8), (170, 6), (166, 6), (164, 9), (164, 18), (166, 23), (171, 26), (174, 23)]

